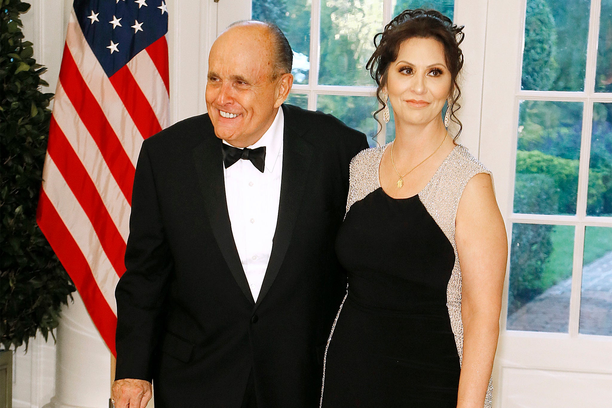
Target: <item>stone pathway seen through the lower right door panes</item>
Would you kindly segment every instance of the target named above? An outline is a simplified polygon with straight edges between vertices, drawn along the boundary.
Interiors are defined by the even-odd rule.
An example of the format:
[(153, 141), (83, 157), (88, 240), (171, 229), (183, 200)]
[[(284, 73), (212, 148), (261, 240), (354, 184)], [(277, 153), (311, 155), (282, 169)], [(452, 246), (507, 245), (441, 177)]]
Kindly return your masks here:
[[(572, 279), (550, 287), (508, 317), (508, 330), (567, 333)], [(580, 333), (612, 336), (612, 251), (583, 268)]]

